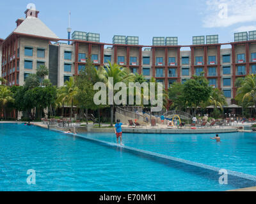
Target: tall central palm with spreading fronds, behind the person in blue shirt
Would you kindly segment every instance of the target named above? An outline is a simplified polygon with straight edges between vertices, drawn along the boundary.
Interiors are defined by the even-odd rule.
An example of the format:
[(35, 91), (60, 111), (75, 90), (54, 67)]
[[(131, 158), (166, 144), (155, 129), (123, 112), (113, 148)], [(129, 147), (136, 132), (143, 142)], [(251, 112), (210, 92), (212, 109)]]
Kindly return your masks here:
[[(113, 78), (113, 87), (115, 87), (115, 84), (118, 82), (124, 82), (125, 84), (128, 84), (128, 82), (131, 82), (134, 79), (134, 75), (129, 72), (127, 68), (122, 68), (118, 66), (117, 64), (111, 64), (109, 62), (109, 66), (106, 66), (106, 69), (103, 67), (100, 67), (100, 69), (97, 71), (97, 75), (102, 82), (106, 84), (108, 87), (108, 79)], [(115, 95), (114, 91), (114, 95)], [(111, 108), (111, 119), (110, 123), (111, 126), (113, 126), (113, 113), (114, 113), (114, 105), (110, 105)]]

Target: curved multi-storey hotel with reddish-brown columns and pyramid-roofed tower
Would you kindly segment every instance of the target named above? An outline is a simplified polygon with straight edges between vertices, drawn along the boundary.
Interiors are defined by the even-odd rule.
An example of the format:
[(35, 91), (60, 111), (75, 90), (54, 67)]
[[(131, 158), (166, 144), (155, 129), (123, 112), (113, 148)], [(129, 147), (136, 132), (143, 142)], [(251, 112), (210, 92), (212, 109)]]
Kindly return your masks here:
[[(192, 45), (178, 45), (177, 37), (154, 37), (152, 45), (145, 46), (136, 36), (113, 36), (110, 44), (101, 43), (100, 34), (81, 31), (74, 31), (72, 39), (60, 39), (38, 13), (27, 9), (26, 18), (18, 18), (14, 31), (0, 39), (1, 76), (8, 85), (23, 85), (44, 64), (52, 84), (60, 87), (78, 75), (91, 56), (96, 68), (115, 62), (147, 79), (156, 78), (165, 89), (204, 71), (209, 84), (221, 89), (230, 104), (236, 78), (256, 73), (256, 31), (235, 33), (231, 43), (218, 43), (218, 35), (211, 35), (194, 36)], [(224, 45), (230, 48), (221, 48)], [(189, 50), (182, 51), (184, 47)]]

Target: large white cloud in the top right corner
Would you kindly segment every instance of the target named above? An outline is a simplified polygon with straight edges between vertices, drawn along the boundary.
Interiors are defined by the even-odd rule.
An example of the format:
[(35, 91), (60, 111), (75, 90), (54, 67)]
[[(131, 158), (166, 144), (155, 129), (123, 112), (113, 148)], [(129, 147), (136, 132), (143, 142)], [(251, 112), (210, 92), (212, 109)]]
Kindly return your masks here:
[(256, 21), (256, 0), (207, 0), (204, 27), (228, 27)]

